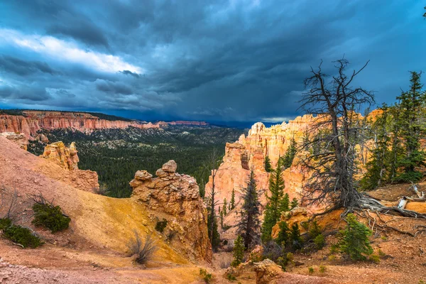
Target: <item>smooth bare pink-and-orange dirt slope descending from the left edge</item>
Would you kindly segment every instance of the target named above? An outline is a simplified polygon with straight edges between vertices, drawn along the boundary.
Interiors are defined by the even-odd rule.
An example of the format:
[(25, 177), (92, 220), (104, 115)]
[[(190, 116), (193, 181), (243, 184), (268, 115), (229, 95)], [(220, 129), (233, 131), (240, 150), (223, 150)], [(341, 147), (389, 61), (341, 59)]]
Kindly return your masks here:
[[(155, 253), (155, 261), (187, 263), (188, 259), (198, 259), (196, 253), (187, 255), (190, 251), (182, 249), (180, 245), (174, 246), (173, 241), (168, 243), (163, 234), (155, 231), (155, 219), (152, 219), (156, 216), (155, 210), (148, 212), (146, 206), (134, 199), (114, 199), (85, 190), (83, 187), (87, 185), (87, 177), (82, 176), (84, 172), (86, 171), (66, 170), (50, 160), (23, 151), (12, 141), (0, 137), (1, 189), (8, 194), (16, 190), (18, 200), (14, 212), (18, 224), (31, 227), (48, 239), (49, 244), (126, 253), (127, 244), (136, 230), (142, 238), (151, 234), (157, 240), (160, 250)], [(70, 229), (50, 234), (31, 224), (32, 202), (28, 195), (39, 193), (46, 200), (54, 200), (70, 216)], [(4, 209), (0, 208), (0, 216), (4, 216)], [(157, 209), (158, 214), (163, 212), (160, 206)], [(205, 233), (197, 233), (197, 228), (191, 227), (195, 235), (207, 235), (207, 229)], [(207, 247), (204, 248), (204, 254), (207, 250)]]

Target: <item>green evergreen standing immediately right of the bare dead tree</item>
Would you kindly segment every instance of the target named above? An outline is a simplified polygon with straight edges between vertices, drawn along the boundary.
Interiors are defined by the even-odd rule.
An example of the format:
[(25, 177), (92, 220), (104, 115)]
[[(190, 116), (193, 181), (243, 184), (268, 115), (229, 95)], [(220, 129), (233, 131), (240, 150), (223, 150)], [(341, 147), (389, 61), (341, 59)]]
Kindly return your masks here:
[(366, 190), (380, 187), (390, 178), (392, 153), (389, 107), (383, 104), (381, 111), (372, 126), (375, 148), (371, 151), (371, 160), (366, 163), (367, 173), (361, 180), (361, 186)]

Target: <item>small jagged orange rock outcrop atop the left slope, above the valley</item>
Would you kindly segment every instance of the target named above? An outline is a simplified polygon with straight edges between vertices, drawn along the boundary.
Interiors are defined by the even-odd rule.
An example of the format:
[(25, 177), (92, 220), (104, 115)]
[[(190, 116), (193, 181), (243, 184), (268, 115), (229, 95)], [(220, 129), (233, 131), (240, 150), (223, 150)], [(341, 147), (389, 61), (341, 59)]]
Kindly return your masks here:
[(40, 157), (53, 160), (53, 162), (67, 170), (78, 170), (77, 164), (79, 162), (79, 158), (74, 142), (70, 144), (69, 148), (65, 147), (65, 144), (62, 143), (62, 141), (49, 144), (45, 146), (43, 155), (40, 155)]

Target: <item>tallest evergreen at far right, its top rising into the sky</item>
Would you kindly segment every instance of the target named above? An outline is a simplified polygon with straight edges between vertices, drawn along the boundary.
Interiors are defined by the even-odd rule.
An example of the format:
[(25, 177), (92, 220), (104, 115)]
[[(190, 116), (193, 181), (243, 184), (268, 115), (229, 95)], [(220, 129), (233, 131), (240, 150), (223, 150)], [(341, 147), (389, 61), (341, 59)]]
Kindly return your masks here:
[(404, 155), (398, 160), (398, 167), (403, 169), (398, 175), (398, 180), (401, 181), (420, 180), (422, 174), (416, 168), (425, 165), (425, 152), (420, 149), (420, 135), (425, 130), (422, 121), (425, 92), (422, 92), (420, 75), (421, 73), (411, 72), (410, 90), (397, 97), (400, 100), (400, 135), (404, 141)]

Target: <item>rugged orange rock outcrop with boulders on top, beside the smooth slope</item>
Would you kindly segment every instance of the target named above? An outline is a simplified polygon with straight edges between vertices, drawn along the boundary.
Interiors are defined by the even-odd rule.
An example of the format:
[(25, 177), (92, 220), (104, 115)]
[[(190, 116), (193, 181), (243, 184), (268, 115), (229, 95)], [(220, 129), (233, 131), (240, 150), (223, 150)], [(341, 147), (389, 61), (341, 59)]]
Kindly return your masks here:
[(158, 178), (138, 170), (131, 180), (132, 199), (146, 206), (153, 222), (165, 219), (165, 238), (180, 248), (192, 261), (212, 260), (207, 234), (207, 209), (195, 178), (175, 173), (174, 160), (158, 169)]

